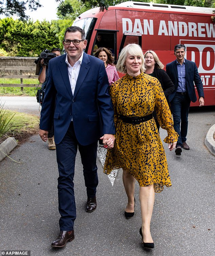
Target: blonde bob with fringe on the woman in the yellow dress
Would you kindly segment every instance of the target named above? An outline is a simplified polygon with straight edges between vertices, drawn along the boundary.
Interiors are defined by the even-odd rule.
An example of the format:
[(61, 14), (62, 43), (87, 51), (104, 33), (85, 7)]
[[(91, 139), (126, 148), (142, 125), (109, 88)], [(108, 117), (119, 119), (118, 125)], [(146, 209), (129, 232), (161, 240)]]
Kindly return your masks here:
[(132, 56), (140, 56), (141, 57), (142, 66), (141, 66), (140, 70), (144, 73), (144, 71), (145, 71), (145, 60), (144, 60), (144, 57), (143, 57), (142, 49), (137, 44), (128, 44), (121, 50), (118, 62), (116, 64), (117, 70), (120, 73), (124, 73), (124, 74), (127, 73), (125, 63), (126, 63), (126, 59), (127, 59), (129, 54), (132, 55)]

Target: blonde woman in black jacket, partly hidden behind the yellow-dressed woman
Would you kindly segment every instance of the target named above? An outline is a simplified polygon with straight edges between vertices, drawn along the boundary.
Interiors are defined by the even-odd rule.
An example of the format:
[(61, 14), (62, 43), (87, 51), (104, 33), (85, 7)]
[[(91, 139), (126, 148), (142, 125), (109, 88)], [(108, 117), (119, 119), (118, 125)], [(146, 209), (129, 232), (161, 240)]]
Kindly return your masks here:
[[(144, 53), (145, 58), (145, 74), (153, 76), (158, 79), (163, 89), (164, 95), (169, 104), (168, 97), (174, 91), (175, 87), (167, 73), (163, 70), (164, 65), (159, 60), (157, 54), (154, 51), (148, 50)], [(155, 122), (159, 131), (160, 125), (157, 120), (156, 111), (153, 113)]]

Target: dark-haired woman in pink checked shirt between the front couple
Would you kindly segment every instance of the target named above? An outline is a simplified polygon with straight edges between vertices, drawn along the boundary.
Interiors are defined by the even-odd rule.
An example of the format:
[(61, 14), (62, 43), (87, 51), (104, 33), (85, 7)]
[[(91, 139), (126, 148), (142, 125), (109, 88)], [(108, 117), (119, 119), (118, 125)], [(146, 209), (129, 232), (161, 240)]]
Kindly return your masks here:
[(105, 47), (101, 47), (95, 52), (95, 57), (99, 58), (104, 62), (109, 85), (112, 85), (112, 83), (116, 82), (119, 79), (119, 75), (114, 65), (114, 57), (112, 55), (112, 52)]

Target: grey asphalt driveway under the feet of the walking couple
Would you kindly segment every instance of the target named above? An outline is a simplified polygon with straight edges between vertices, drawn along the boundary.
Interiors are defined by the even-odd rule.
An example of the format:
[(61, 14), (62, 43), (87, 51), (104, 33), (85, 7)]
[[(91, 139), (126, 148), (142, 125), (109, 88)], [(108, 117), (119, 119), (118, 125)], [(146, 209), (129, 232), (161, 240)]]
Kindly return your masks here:
[[(112, 186), (99, 159), (98, 206), (93, 213), (85, 212), (86, 192), (79, 154), (74, 178), (75, 240), (63, 249), (51, 248), (59, 233), (56, 153), (48, 150), (38, 135), (12, 151), (10, 157), (19, 163), (7, 157), (0, 162), (0, 251), (26, 250), (32, 256), (213, 256), (215, 156), (204, 145), (204, 139), (215, 123), (214, 110), (191, 110), (187, 140), (191, 149), (183, 150), (180, 157), (168, 151), (165, 144), (172, 187), (156, 194), (152, 251), (142, 249), (138, 233), (138, 184), (135, 215), (126, 220), (122, 171), (119, 170)], [(163, 140), (166, 132), (160, 132)]]

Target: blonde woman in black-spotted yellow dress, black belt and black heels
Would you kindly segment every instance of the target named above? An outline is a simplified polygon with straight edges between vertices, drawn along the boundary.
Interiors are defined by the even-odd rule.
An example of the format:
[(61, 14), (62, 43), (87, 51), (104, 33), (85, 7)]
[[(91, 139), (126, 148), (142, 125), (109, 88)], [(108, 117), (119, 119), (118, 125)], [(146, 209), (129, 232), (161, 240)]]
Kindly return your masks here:
[(169, 143), (170, 150), (175, 148), (178, 134), (173, 129), (171, 112), (159, 81), (143, 73), (144, 57), (139, 45), (129, 44), (123, 48), (117, 69), (126, 75), (110, 88), (116, 140), (114, 147), (107, 150), (104, 173), (123, 169), (128, 196), (126, 218), (134, 215), (135, 179), (139, 182), (142, 244), (145, 248), (154, 248), (150, 222), (155, 192), (161, 192), (164, 185), (171, 186), (164, 148), (152, 117), (154, 108), (161, 128), (168, 132), (164, 142)]

